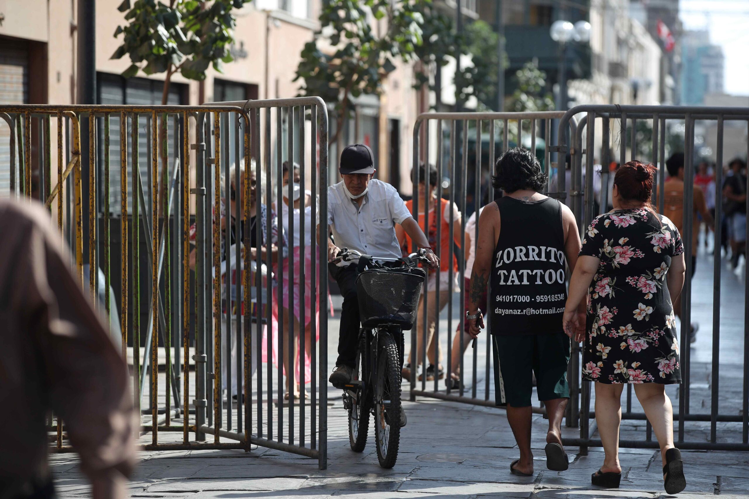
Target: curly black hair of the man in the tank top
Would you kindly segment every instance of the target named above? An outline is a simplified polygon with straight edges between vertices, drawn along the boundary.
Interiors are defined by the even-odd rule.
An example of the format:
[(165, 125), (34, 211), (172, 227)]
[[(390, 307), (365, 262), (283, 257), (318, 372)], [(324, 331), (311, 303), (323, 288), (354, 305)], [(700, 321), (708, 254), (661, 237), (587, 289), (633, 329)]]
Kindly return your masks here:
[(548, 180), (539, 160), (524, 147), (507, 150), (497, 159), (494, 170), (496, 174), (491, 177), (491, 185), (508, 193), (520, 189), (540, 192)]

